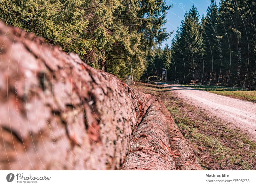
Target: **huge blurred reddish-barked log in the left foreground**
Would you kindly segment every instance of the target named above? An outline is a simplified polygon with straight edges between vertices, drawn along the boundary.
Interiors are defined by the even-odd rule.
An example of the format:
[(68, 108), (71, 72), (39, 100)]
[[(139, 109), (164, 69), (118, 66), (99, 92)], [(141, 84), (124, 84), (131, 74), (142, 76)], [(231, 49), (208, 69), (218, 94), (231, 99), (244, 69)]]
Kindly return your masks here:
[(0, 169), (120, 169), (150, 95), (3, 23), (0, 45)]

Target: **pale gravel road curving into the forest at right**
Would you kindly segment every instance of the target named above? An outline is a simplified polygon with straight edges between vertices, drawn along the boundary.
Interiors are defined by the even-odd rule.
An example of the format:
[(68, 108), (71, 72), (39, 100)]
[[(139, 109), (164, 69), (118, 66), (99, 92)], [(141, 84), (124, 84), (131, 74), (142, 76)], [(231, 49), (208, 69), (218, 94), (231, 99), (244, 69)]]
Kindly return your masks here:
[(185, 102), (195, 105), (212, 117), (234, 124), (256, 138), (256, 104), (230, 97), (220, 96), (207, 91), (182, 87), (177, 84), (162, 84), (160, 88), (172, 91)]

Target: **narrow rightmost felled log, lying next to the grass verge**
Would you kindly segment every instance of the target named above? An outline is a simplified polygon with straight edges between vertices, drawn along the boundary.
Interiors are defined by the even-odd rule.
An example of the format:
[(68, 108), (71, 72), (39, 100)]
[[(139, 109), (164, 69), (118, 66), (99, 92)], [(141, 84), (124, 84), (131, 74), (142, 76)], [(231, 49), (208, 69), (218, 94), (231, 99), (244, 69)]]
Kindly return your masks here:
[(159, 99), (161, 109), (167, 120), (167, 130), (172, 156), (177, 170), (203, 170), (196, 159), (191, 146), (188, 144), (180, 129), (175, 124), (170, 112)]

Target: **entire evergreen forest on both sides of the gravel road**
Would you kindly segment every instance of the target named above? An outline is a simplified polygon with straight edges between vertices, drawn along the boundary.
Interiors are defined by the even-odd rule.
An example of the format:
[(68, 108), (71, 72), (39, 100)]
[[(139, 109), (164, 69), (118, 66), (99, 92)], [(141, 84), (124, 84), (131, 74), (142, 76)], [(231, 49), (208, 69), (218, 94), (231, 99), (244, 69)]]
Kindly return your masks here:
[(193, 5), (161, 48), (170, 8), (165, 0), (3, 0), (0, 18), (121, 78), (167, 68), (169, 80), (256, 89), (254, 0), (211, 0), (201, 19)]

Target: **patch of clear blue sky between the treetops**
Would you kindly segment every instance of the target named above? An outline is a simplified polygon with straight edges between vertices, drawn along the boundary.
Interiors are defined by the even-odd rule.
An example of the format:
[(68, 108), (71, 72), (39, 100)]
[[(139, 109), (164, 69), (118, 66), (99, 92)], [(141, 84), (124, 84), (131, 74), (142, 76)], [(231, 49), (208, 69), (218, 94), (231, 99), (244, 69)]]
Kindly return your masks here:
[[(220, 0), (215, 0), (219, 5)], [(168, 22), (165, 24), (167, 32), (172, 32), (172, 36), (167, 40), (167, 44), (170, 46), (172, 38), (176, 32), (176, 29), (181, 24), (181, 20), (184, 19), (185, 12), (188, 11), (193, 4), (195, 4), (197, 11), (200, 14), (206, 14), (207, 7), (210, 6), (211, 0), (165, 0), (167, 5), (172, 4), (172, 8), (167, 13)], [(164, 46), (165, 43), (163, 43)]]

